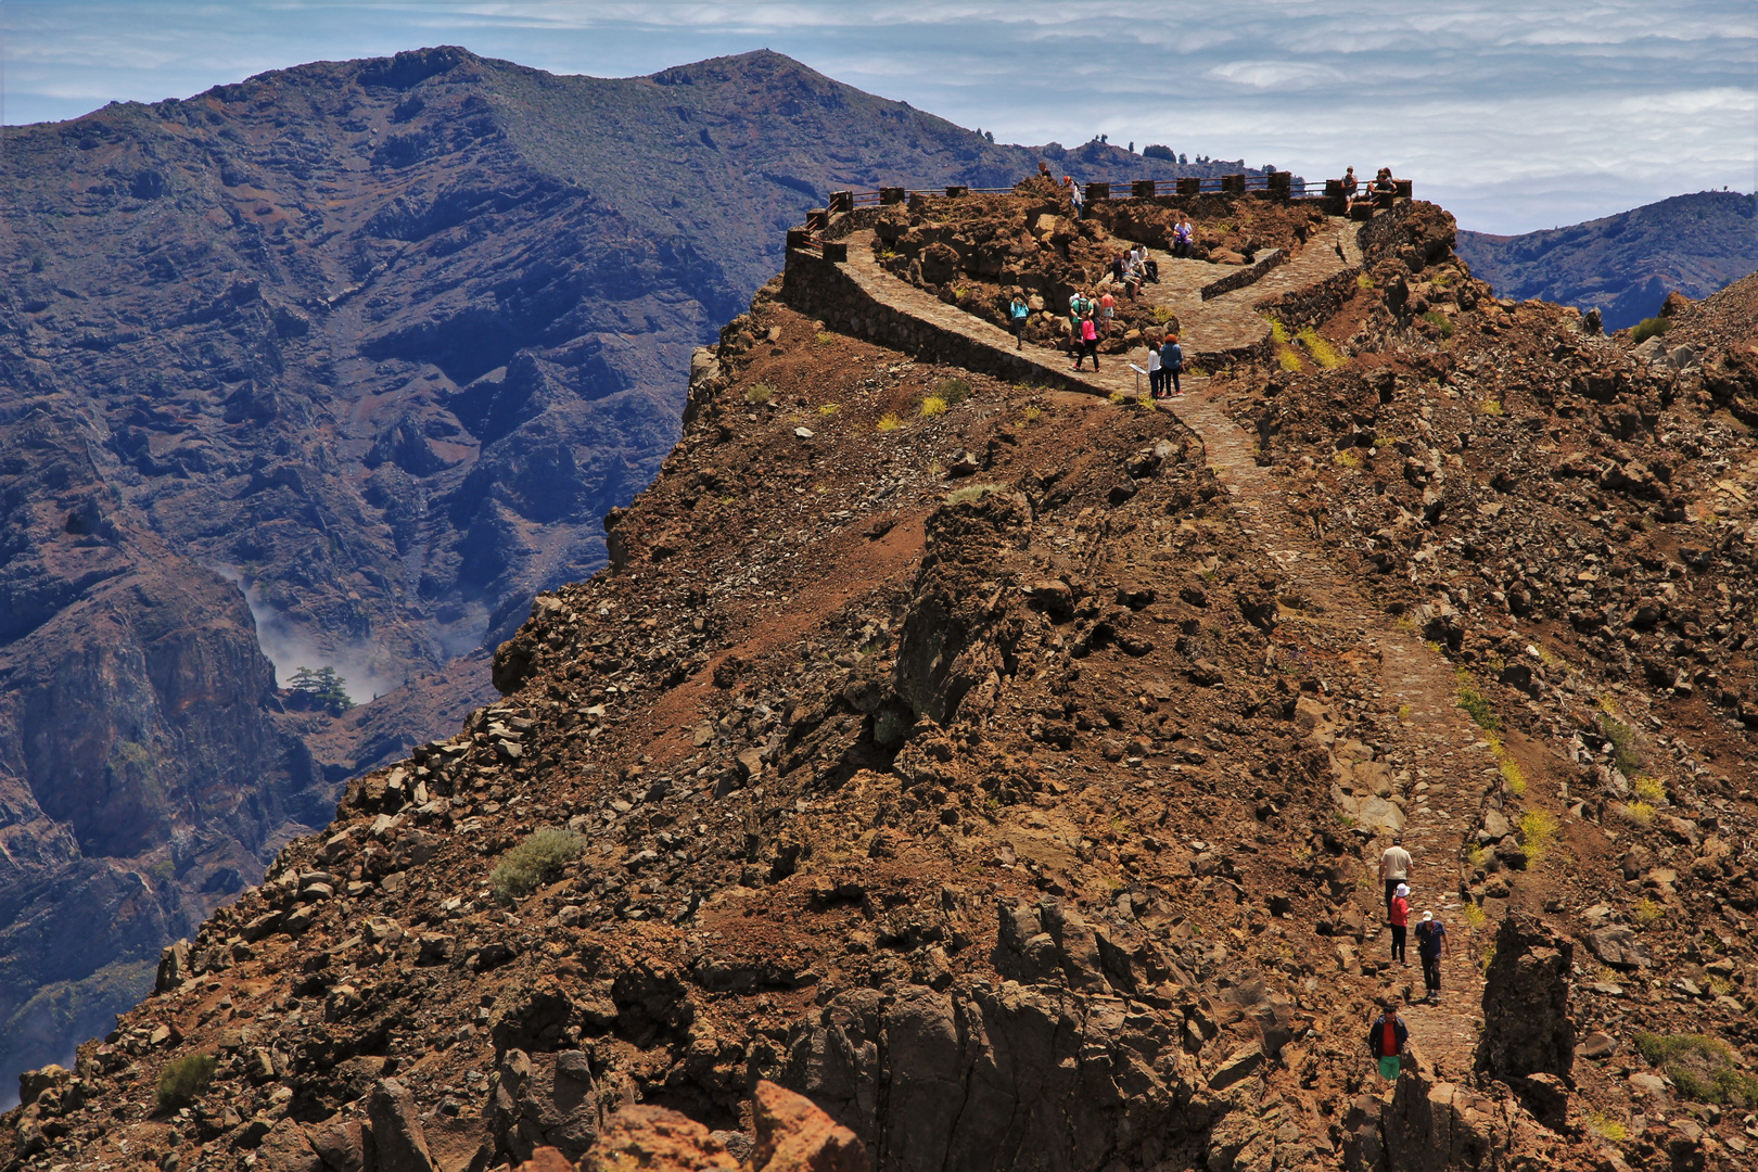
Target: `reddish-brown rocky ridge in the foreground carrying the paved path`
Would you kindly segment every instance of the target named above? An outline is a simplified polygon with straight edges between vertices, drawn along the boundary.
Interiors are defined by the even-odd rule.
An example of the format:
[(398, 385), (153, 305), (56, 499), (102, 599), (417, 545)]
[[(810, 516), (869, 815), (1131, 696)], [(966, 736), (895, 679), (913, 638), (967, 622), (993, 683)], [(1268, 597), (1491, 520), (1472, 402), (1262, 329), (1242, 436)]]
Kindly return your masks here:
[(1452, 232), (1294, 257), (1331, 293), (1171, 409), (789, 253), (505, 699), (32, 1074), (7, 1167), (615, 1167), (638, 1118), (765, 1167), (765, 1081), (879, 1168), (1744, 1167), (1758, 290), (1645, 357)]

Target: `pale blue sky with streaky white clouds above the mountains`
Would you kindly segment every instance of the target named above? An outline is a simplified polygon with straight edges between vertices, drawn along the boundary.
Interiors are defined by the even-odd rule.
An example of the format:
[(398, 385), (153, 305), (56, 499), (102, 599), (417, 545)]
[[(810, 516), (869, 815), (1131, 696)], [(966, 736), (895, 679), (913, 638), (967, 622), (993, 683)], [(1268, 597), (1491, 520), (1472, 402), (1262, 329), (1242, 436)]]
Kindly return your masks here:
[(598, 76), (770, 47), (1004, 142), (1389, 163), (1486, 232), (1753, 190), (1758, 169), (1751, 0), (0, 0), (0, 26), (9, 123), (431, 44)]

